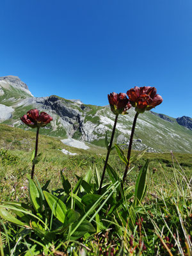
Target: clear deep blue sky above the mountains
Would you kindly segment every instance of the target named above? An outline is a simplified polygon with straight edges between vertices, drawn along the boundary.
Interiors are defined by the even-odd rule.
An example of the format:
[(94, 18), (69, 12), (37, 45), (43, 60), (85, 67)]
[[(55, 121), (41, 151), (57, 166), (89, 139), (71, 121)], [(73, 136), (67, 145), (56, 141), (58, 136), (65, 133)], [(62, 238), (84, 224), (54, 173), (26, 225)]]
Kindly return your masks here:
[(100, 106), (155, 86), (155, 111), (192, 117), (191, 13), (191, 0), (1, 0), (0, 76)]

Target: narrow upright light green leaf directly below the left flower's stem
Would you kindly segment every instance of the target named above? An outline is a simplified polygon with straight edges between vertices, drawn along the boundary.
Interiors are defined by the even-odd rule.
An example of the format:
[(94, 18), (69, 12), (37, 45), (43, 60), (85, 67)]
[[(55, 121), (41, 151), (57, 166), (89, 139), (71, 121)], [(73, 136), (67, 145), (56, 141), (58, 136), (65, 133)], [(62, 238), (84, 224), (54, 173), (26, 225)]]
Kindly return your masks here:
[(38, 188), (36, 188), (35, 182), (33, 180), (29, 179), (29, 197), (31, 200), (31, 204), (33, 205), (33, 208), (36, 212), (42, 211), (42, 196), (40, 195), (40, 192)]

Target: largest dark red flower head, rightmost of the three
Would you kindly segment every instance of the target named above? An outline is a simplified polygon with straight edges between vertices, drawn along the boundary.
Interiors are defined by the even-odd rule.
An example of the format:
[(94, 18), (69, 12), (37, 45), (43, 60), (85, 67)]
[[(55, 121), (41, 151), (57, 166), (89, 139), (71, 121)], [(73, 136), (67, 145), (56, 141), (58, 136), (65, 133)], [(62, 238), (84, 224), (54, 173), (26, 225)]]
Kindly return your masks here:
[(162, 97), (157, 94), (157, 89), (150, 86), (134, 86), (134, 88), (127, 91), (127, 95), (131, 105), (135, 107), (138, 113), (143, 113), (145, 110), (155, 108), (163, 102)]

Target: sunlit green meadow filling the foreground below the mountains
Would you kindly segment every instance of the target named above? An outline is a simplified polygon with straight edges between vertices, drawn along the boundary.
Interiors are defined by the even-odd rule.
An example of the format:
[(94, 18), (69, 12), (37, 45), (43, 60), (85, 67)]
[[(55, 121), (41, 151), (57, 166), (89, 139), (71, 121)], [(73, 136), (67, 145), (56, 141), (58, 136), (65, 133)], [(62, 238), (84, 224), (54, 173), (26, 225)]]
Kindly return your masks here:
[[(30, 183), (35, 132), (1, 124), (0, 134), (1, 217), (2, 209), (6, 209), (27, 227), (21, 223), (13, 225), (15, 220), (1, 219), (1, 255), (191, 255), (191, 154), (145, 152), (136, 157), (119, 198), (118, 182), (125, 163), (115, 149), (109, 156), (103, 192), (97, 195), (105, 148), (72, 148), (58, 138), (40, 135), (38, 152), (42, 153), (42, 159), (36, 164), (35, 179)], [(63, 148), (77, 155), (65, 155), (61, 152)], [(131, 156), (138, 154), (132, 151)], [(143, 166), (147, 166), (145, 184), (138, 180), (144, 173)], [(45, 184), (49, 186), (45, 188)], [(46, 191), (44, 210), (35, 209), (29, 186)], [(76, 218), (79, 214), (78, 221), (68, 223), (65, 231), (60, 230), (55, 205), (46, 213), (49, 217), (44, 216), (51, 204), (48, 195), (60, 198), (67, 211), (76, 211), (73, 212)], [(15, 202), (15, 205), (4, 202)], [(31, 215), (27, 225), (25, 214), (29, 212), (36, 217)], [(40, 221), (45, 221), (45, 227)], [(79, 234), (81, 225), (77, 227), (77, 223), (84, 223), (85, 228), (84, 231), (80, 228)], [(51, 228), (52, 232), (56, 229), (60, 232), (49, 237), (46, 232)]]

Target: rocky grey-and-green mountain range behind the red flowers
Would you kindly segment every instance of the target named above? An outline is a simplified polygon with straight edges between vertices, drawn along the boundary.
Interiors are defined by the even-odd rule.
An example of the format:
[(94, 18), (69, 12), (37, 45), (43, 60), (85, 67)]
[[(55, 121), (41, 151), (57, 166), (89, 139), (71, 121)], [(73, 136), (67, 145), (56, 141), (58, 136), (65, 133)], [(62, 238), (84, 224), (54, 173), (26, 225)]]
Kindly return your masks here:
[[(106, 132), (111, 135), (115, 115), (109, 106), (83, 104), (81, 100), (68, 100), (51, 95), (33, 97), (28, 86), (19, 77), (0, 77), (0, 122), (30, 129), (20, 121), (29, 109), (37, 108), (52, 116), (53, 121), (40, 131), (49, 136), (75, 138), (104, 147)], [(128, 115), (120, 115), (116, 125), (115, 141), (127, 147), (131, 134), (134, 109)], [(182, 117), (181, 120), (184, 120)], [(186, 118), (185, 118), (186, 120)], [(163, 114), (145, 111), (140, 114), (134, 134), (134, 149), (148, 147), (152, 152), (192, 153), (190, 120), (183, 121)], [(186, 126), (186, 127), (185, 127)]]

